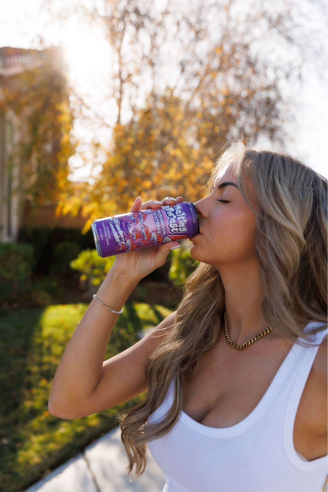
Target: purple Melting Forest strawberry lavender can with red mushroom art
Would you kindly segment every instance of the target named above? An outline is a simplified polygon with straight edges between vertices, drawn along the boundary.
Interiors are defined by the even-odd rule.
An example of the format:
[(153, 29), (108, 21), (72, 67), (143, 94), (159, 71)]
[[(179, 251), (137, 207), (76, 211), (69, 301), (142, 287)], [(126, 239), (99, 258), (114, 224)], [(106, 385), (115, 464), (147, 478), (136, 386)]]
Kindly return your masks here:
[(91, 227), (97, 253), (102, 258), (192, 238), (199, 233), (192, 202), (99, 218)]

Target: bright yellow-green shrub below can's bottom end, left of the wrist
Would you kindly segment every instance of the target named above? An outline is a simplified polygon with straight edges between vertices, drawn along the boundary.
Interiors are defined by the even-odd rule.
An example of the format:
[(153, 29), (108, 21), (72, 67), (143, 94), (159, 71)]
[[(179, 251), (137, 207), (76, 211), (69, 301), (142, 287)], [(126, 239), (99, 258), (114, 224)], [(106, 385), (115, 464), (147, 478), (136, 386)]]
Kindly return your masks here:
[(93, 294), (105, 280), (114, 261), (115, 256), (102, 258), (98, 255), (96, 249), (86, 249), (81, 251), (78, 257), (70, 262), (70, 267), (72, 270), (78, 270), (82, 273), (80, 277), (82, 287)]

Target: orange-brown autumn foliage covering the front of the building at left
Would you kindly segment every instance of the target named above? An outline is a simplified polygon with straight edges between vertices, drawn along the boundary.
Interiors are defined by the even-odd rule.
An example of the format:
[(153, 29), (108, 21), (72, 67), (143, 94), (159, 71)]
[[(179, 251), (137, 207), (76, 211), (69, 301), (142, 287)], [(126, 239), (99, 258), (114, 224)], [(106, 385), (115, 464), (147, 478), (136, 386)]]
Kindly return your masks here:
[(1, 79), (0, 110), (11, 109), (20, 121), (15, 159), (22, 198), (30, 198), (34, 205), (56, 203), (67, 184), (68, 159), (75, 147), (70, 137), (73, 115), (67, 67), (59, 48), (29, 53), (34, 60), (31, 66)]

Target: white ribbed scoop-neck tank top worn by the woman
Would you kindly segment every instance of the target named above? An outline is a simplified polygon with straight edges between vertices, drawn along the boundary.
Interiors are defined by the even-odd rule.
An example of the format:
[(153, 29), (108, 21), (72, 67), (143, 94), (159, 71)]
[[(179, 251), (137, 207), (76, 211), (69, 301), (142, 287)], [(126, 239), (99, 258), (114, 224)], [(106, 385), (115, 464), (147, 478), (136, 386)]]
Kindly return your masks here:
[[(304, 331), (323, 323), (311, 322)], [(226, 428), (199, 424), (181, 410), (175, 426), (149, 441), (163, 470), (162, 492), (321, 492), (328, 455), (306, 461), (293, 444), (298, 403), (319, 343), (327, 329), (304, 347), (293, 345), (254, 410)], [(160, 421), (173, 402), (174, 379), (162, 404), (148, 418)]]

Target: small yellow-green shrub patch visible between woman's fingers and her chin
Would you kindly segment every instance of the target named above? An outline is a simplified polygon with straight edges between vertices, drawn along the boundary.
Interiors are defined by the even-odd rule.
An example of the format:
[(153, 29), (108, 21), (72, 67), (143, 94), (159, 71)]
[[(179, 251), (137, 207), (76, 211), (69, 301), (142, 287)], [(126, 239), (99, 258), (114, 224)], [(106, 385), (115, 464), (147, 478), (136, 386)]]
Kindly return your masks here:
[(183, 285), (188, 275), (190, 275), (200, 263), (190, 255), (191, 246), (191, 241), (185, 240), (181, 242), (181, 247), (172, 249), (169, 278), (177, 287)]

